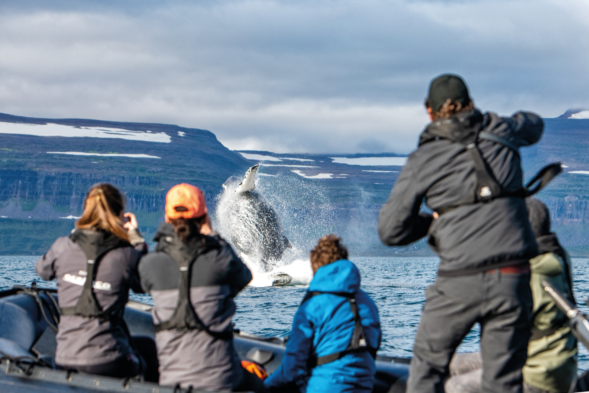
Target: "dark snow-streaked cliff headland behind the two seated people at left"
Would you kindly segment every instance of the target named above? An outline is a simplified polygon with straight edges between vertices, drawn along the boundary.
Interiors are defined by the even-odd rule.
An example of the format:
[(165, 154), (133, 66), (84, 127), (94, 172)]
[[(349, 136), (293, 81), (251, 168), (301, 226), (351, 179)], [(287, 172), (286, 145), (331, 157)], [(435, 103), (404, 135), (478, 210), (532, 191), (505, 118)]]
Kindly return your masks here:
[(197, 128), (0, 114), (0, 253), (44, 253), (68, 234), (73, 220), (59, 217), (80, 216), (92, 184), (123, 191), (151, 234), (171, 186), (194, 184), (212, 205), (250, 165)]

